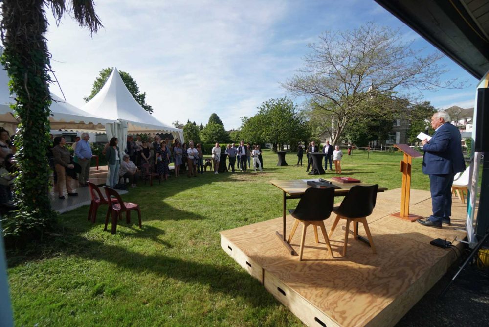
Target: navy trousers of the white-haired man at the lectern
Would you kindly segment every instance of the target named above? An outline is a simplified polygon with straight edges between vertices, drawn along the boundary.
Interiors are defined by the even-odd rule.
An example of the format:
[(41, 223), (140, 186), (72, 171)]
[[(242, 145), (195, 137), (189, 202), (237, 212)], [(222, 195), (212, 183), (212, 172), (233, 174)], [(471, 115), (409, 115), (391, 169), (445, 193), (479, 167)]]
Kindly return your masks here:
[(450, 218), (452, 214), (452, 192), (454, 174), (429, 175), (431, 207), (433, 214), (429, 220), (442, 222), (443, 218)]

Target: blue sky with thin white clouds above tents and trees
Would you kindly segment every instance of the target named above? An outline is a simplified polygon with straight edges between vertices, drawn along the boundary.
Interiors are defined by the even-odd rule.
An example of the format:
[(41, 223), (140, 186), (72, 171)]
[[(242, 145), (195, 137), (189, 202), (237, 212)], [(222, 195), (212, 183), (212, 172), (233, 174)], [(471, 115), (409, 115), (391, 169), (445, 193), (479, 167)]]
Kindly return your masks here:
[[(48, 13), (52, 67), (68, 102), (82, 106), (98, 72), (117, 67), (146, 91), (154, 116), (171, 124), (207, 122), (226, 129), (253, 116), (262, 102), (289, 95), (280, 85), (303, 66), (307, 44), (327, 30), (368, 21), (400, 28), (412, 47), (435, 50), (376, 2), (369, 0), (95, 0), (104, 28), (90, 38), (69, 17), (57, 27)], [(444, 58), (443, 79), (466, 81), (460, 90), (424, 92), (437, 108), (473, 106), (475, 78)], [(53, 93), (61, 95), (57, 85)], [(303, 99), (294, 99), (301, 103)]]

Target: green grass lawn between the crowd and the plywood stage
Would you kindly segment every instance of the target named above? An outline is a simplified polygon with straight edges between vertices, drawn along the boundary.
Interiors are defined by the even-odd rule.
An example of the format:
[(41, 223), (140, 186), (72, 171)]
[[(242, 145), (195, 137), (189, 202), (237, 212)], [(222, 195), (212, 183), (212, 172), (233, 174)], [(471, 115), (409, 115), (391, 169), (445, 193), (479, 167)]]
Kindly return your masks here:
[[(311, 177), (305, 165), (263, 157), (261, 173), (182, 175), (130, 189), (123, 199), (140, 205), (142, 229), (133, 214), (116, 235), (104, 232), (107, 207), (95, 224), (88, 206), (60, 215), (43, 243), (7, 253), (16, 325), (301, 326), (220, 247), (220, 231), (281, 216), (282, 194), (269, 180)], [(398, 188), (401, 159), (355, 151), (342, 161), (343, 176)], [(412, 187), (429, 189), (421, 168), (415, 160)]]

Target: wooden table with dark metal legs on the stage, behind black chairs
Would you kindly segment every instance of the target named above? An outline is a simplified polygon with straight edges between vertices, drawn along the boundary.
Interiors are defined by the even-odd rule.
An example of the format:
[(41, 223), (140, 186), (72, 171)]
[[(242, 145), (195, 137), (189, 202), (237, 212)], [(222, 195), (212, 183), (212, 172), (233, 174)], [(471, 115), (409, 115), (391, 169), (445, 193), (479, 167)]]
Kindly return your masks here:
[[(311, 181), (317, 181), (317, 179), (310, 179)], [(333, 183), (335, 186), (339, 186), (340, 188), (334, 189), (334, 196), (345, 196), (349, 191), (350, 188), (356, 186), (356, 185), (361, 185), (361, 186), (371, 186), (372, 184), (366, 184), (366, 183), (340, 183), (337, 182), (333, 179), (328, 179), (325, 178), (325, 180)], [(302, 180), (302, 179), (297, 179), (297, 180), (272, 180), (270, 183), (281, 189), (284, 193), (283, 195), (283, 211), (282, 211), (282, 234), (279, 232), (275, 232), (275, 234), (280, 238), (280, 241), (284, 243), (284, 246), (287, 247), (287, 249), (290, 251), (291, 255), (296, 254), (294, 249), (290, 246), (289, 242), (287, 242), (287, 238), (285, 237), (286, 234), (286, 219), (285, 217), (287, 216), (287, 200), (289, 199), (299, 199), (302, 197), (304, 192), (306, 192), (306, 189), (309, 188), (307, 185), (308, 180)], [(378, 192), (383, 192), (387, 190), (387, 187), (378, 187)]]

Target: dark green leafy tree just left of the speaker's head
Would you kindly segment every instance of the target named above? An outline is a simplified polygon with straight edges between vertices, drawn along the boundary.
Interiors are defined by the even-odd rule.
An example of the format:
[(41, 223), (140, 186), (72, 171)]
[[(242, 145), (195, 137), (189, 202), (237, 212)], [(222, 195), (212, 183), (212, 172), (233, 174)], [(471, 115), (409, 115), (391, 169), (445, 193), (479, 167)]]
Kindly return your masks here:
[(420, 142), (416, 137), (420, 132), (433, 134), (434, 131), (431, 127), (430, 119), (436, 111), (429, 101), (416, 103), (409, 108), (408, 119), (410, 120), (410, 126), (406, 136), (410, 144)]

